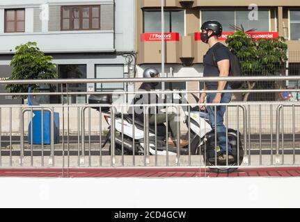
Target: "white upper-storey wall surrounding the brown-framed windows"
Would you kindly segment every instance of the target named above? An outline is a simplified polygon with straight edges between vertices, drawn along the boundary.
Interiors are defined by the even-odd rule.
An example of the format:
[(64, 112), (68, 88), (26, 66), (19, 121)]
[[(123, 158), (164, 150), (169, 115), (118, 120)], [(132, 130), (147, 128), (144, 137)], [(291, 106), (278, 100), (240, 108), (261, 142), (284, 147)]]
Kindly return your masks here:
[[(50, 6), (61, 4), (88, 4), (88, 3), (109, 3), (115, 2), (115, 35), (87, 34), (84, 35), (63, 35), (56, 37), (52, 35), (26, 35), (33, 33), (33, 8), (40, 8), (43, 3)], [(4, 33), (4, 8), (26, 8), (25, 33)], [(74, 46), (76, 51), (134, 51), (134, 25), (135, 25), (135, 0), (1, 0), (0, 3), (0, 53), (10, 53), (10, 49), (25, 41), (36, 41), (40, 48), (46, 52), (70, 52)], [(47, 21), (42, 22), (42, 33), (48, 30)], [(63, 32), (66, 34), (67, 32)], [(79, 32), (73, 32), (79, 33)], [(38, 33), (37, 33), (38, 34)], [(40, 33), (39, 33), (40, 34)], [(84, 38), (83, 38), (84, 37)], [(115, 39), (114, 39), (115, 37)], [(115, 40), (115, 42), (113, 42)], [(42, 45), (40, 45), (42, 44)]]

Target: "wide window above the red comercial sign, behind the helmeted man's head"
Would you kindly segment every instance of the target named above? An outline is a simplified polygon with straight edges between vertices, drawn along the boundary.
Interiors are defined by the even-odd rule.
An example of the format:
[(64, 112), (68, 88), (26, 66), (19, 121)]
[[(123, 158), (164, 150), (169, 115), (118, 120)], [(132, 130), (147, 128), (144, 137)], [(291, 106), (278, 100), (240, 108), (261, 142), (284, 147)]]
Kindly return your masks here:
[(256, 28), (256, 31), (269, 31), (269, 10), (259, 10), (258, 20), (248, 19), (250, 10), (203, 10), (202, 22), (209, 20), (219, 21), (223, 31), (230, 32), (230, 25), (242, 26), (245, 31)]

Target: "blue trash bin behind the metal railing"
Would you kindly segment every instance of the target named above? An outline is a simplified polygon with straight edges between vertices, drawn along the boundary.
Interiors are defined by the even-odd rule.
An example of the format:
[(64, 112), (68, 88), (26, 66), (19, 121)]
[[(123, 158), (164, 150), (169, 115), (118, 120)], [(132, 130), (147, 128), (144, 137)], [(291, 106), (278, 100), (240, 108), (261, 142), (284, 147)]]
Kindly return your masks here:
[[(29, 88), (29, 92), (31, 89)], [(28, 96), (29, 105), (40, 105), (35, 99), (30, 95)], [(49, 111), (43, 111), (43, 120), (42, 120), (42, 111), (33, 111), (32, 114), (32, 144), (42, 144), (42, 127), (43, 127), (43, 142), (44, 144), (51, 144), (51, 113)], [(43, 123), (42, 123), (43, 121)], [(31, 144), (31, 120), (29, 121), (28, 126), (28, 141)], [(59, 143), (59, 113), (54, 112), (54, 144)]]

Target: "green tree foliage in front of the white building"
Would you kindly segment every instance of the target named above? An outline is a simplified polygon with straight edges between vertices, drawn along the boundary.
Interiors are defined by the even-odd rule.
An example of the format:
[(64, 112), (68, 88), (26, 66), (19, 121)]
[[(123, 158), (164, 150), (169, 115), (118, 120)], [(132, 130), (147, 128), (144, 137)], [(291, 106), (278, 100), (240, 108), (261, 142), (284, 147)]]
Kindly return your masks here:
[[(52, 56), (45, 56), (40, 51), (36, 42), (27, 42), (15, 47), (15, 56), (10, 62), (13, 67), (12, 76), (9, 80), (37, 80), (37, 79), (53, 79), (57, 78), (56, 65), (52, 63)], [(6, 85), (6, 89), (10, 93), (38, 92), (40, 85)], [(50, 88), (55, 86), (50, 84)], [(17, 96), (13, 96), (17, 97)], [(19, 96), (26, 99), (27, 96)]]

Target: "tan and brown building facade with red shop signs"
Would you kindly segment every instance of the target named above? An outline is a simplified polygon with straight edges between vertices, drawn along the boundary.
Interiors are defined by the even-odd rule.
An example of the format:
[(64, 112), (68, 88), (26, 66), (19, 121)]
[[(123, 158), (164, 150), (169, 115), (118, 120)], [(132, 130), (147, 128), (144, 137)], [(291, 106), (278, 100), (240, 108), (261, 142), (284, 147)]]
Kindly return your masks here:
[[(287, 74), (300, 74), (300, 1), (166, 0), (166, 76), (202, 76), (203, 55), (208, 46), (200, 41), (200, 26), (207, 20), (217, 20), (223, 31), (230, 25), (258, 33), (281, 35), (287, 40), (289, 69)], [(136, 4), (136, 51), (139, 75), (145, 67), (161, 65), (161, 0), (141, 0)], [(298, 83), (287, 83), (294, 87)], [(195, 85), (181, 85), (194, 89)]]

